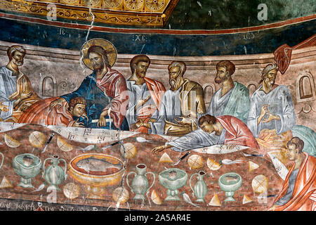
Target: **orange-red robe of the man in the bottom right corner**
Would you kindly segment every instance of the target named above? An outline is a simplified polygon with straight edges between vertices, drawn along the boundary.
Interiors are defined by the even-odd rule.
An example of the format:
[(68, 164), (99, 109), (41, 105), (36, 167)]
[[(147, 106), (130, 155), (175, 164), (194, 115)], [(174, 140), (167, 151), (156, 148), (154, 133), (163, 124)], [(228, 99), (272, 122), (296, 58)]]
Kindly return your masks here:
[[(296, 176), (294, 191), (289, 202), (275, 208), (275, 211), (315, 211), (316, 210), (316, 158), (305, 154), (301, 167)], [(287, 193), (289, 176), (295, 167), (291, 167), (284, 181), (282, 190), (275, 199), (277, 202)]]

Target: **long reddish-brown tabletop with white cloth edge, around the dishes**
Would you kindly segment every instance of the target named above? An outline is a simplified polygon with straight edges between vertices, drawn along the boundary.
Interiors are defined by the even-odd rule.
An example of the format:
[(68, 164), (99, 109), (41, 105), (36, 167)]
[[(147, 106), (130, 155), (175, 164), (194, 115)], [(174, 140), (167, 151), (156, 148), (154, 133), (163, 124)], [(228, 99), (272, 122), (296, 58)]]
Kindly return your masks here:
[[(0, 188), (0, 200), (2, 202), (6, 201), (30, 201), (32, 207), (22, 207), (20, 210), (36, 210), (38, 204), (46, 205), (44, 210), (53, 210), (54, 207), (61, 207), (62, 209), (76, 210), (79, 208), (78, 205), (82, 207), (96, 207), (100, 210), (105, 210), (109, 208), (118, 207), (119, 210), (154, 210), (154, 211), (192, 211), (192, 210), (202, 210), (202, 211), (215, 211), (215, 210), (238, 210), (238, 211), (261, 211), (268, 210), (268, 208), (272, 205), (273, 201), (276, 198), (276, 194), (282, 187), (283, 180), (277, 174), (275, 167), (272, 163), (266, 158), (254, 157), (254, 156), (245, 156), (244, 152), (255, 153), (254, 150), (239, 150), (232, 153), (223, 153), (223, 154), (207, 154), (207, 153), (197, 153), (195, 151), (190, 151), (190, 155), (188, 155), (184, 160), (182, 160), (178, 165), (173, 166), (173, 163), (178, 161), (185, 152), (180, 153), (167, 148), (163, 152), (158, 155), (152, 155), (151, 150), (156, 146), (164, 145), (164, 143), (170, 138), (166, 136), (159, 135), (150, 135), (150, 134), (140, 134), (134, 133), (130, 131), (101, 131), (100, 129), (84, 129), (84, 128), (68, 128), (68, 127), (49, 127), (49, 126), (41, 126), (37, 124), (7, 124), (2, 122), (0, 124), (0, 152), (4, 154), (4, 164), (0, 169), (0, 181), (4, 180), (8, 181), (12, 184), (12, 186), (5, 186), (4, 188)], [(43, 146), (40, 148), (34, 148), (29, 141), (29, 135), (34, 131), (39, 131), (41, 134), (44, 134), (45, 141), (43, 142)], [(51, 143), (48, 144), (46, 151), (41, 153), (44, 148), (45, 143), (50, 138), (51, 134), (55, 134)], [(103, 135), (103, 136), (102, 136)], [(20, 143), (20, 146), (17, 148), (11, 148), (6, 144), (4, 140), (8, 139), (8, 136), (12, 139), (15, 139)], [(75, 136), (75, 137), (74, 137)], [(77, 136), (77, 138), (76, 138)], [(58, 147), (57, 140), (58, 137), (67, 141), (73, 148), (70, 151), (61, 150)], [(140, 142), (137, 137), (141, 137), (146, 139), (145, 142)], [(93, 140), (93, 141), (91, 141)], [(115, 143), (120, 140), (121, 143), (131, 143), (136, 147), (136, 155), (133, 158), (129, 158), (128, 160), (124, 160), (123, 155), (121, 154), (121, 144), (116, 144), (111, 146), (110, 148), (106, 148), (103, 150), (104, 146), (109, 145), (110, 143)], [(82, 149), (87, 146), (91, 146), (93, 144), (94, 148), (90, 150), (83, 151)], [(10, 145), (10, 144), (9, 144)], [(60, 159), (65, 160), (67, 163), (67, 178), (62, 181), (62, 184), (59, 185), (60, 190), (51, 191), (48, 190), (48, 184), (46, 180), (43, 178), (42, 173), (40, 172), (37, 176), (32, 179), (32, 184), (34, 188), (23, 188), (18, 186), (20, 183), (21, 177), (15, 172), (13, 169), (13, 158), (16, 155), (20, 155), (23, 153), (31, 153), (32, 155), (36, 155), (41, 159), (41, 162), (44, 162), (47, 158), (52, 158), (53, 155), (58, 155)], [(86, 193), (86, 185), (74, 179), (74, 177), (70, 174), (70, 161), (76, 158), (79, 155), (87, 154), (87, 153), (98, 153), (105, 155), (112, 155), (116, 158), (124, 160), (124, 176), (121, 181), (112, 186), (105, 187), (105, 193), (103, 195), (103, 199), (93, 199), (87, 198)], [(159, 162), (162, 155), (166, 153), (169, 155), (169, 158), (173, 161), (171, 162)], [(201, 167), (194, 169), (189, 165), (189, 159), (192, 155), (199, 155), (202, 159)], [(242, 160), (243, 163), (240, 164), (232, 164), (225, 165), (221, 164), (220, 168), (217, 170), (211, 170), (207, 165), (208, 158), (211, 158), (214, 162), (220, 162), (224, 159), (230, 160)], [(255, 163), (259, 167), (249, 172), (249, 161), (251, 163)], [(148, 191), (148, 193), (144, 194), (144, 200), (134, 200), (133, 197), (136, 195), (129, 186), (126, 185), (126, 175), (130, 172), (136, 172), (136, 165), (143, 164), (146, 165), (146, 172), (152, 172), (155, 175), (155, 179), (153, 179), (152, 174), (147, 174), (147, 181), (149, 186), (154, 182), (152, 188)], [(51, 165), (49, 162), (46, 163), (46, 168)], [(60, 167), (63, 167), (62, 162), (60, 162)], [(180, 200), (167, 201), (165, 198), (167, 197), (167, 189), (161, 184), (159, 181), (159, 173), (163, 172), (166, 169), (170, 168), (178, 168), (183, 170), (187, 174), (187, 181), (184, 186), (179, 188), (179, 192), (185, 192), (192, 200), (192, 203), (195, 205), (191, 205), (183, 200), (182, 195), (180, 196)], [(205, 172), (203, 176), (203, 180), (207, 187), (206, 196), (204, 198), (204, 203), (197, 203), (196, 195), (193, 195), (193, 191), (190, 188), (190, 178), (193, 174), (198, 172)], [(225, 192), (221, 190), (218, 186), (218, 178), (228, 172), (235, 172), (242, 177), (242, 186), (235, 191), (233, 198), (235, 201), (233, 202), (225, 202)], [(268, 189), (265, 193), (256, 193), (252, 186), (252, 181), (256, 176), (263, 175), (268, 180)], [(5, 178), (4, 178), (5, 177)], [(129, 184), (133, 181), (132, 175), (129, 176)], [(69, 198), (64, 194), (63, 188), (67, 184), (75, 184), (75, 186), (79, 187), (79, 195), (77, 198)], [(37, 191), (37, 188), (40, 186), (44, 188)], [(197, 184), (197, 175), (192, 177), (191, 186), (195, 186)], [(125, 203), (117, 204), (114, 200), (112, 193), (119, 187), (123, 187), (128, 191), (129, 198)], [(157, 193), (159, 201), (153, 201), (151, 198), (152, 191)], [(54, 193), (53, 193), (54, 192)], [(54, 196), (52, 196), (54, 194)], [(211, 200), (217, 196), (220, 205), (215, 206), (209, 204)], [(247, 198), (247, 203), (243, 203), (244, 198)], [(157, 205), (159, 203), (159, 205)], [(3, 203), (6, 205), (6, 203)], [(51, 205), (51, 207), (50, 207)], [(62, 207), (62, 205), (67, 207)], [(73, 207), (69, 207), (73, 205)], [(77, 208), (76, 208), (77, 207)], [(56, 210), (56, 209), (55, 209)]]

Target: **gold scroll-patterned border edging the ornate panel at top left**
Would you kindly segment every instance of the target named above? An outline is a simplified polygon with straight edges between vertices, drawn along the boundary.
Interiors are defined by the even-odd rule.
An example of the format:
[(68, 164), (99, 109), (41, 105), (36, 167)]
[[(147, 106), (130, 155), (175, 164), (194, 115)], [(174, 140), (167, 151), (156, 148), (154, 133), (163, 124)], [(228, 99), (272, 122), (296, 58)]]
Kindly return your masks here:
[[(176, 7), (178, 0), (171, 1), (166, 11), (171, 14), (173, 8)], [(14, 11), (18, 13), (29, 13), (34, 15), (47, 16), (49, 8), (47, 3), (34, 3), (32, 1), (22, 0), (0, 0), (0, 8), (5, 11)], [(89, 8), (76, 6), (63, 6), (55, 4), (55, 15), (58, 18), (70, 20), (88, 20), (92, 21), (92, 16), (89, 13)], [(106, 23), (112, 25), (140, 25), (140, 26), (157, 26), (162, 27), (169, 18), (169, 15), (162, 13), (138, 13), (138, 12), (113, 12), (100, 9), (91, 9), (94, 16), (94, 22)], [(50, 14), (51, 15), (51, 14)], [(49, 18), (48, 18), (49, 20)]]

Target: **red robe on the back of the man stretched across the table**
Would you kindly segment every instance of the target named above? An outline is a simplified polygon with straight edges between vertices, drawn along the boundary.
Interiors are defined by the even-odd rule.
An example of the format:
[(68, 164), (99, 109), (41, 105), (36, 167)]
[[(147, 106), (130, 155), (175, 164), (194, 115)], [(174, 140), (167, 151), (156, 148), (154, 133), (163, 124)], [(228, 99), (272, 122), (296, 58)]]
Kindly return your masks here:
[(230, 115), (216, 117), (216, 120), (218, 120), (226, 130), (224, 144), (248, 146), (256, 149), (259, 148), (254, 135), (242, 120)]

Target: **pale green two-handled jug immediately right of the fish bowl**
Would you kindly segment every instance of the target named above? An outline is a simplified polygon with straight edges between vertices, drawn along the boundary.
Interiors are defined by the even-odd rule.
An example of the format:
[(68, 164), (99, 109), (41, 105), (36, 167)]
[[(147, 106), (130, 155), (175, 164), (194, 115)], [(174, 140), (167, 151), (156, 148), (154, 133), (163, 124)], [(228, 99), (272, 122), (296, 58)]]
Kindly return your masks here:
[[(136, 193), (135, 197), (133, 198), (134, 200), (137, 199), (141, 199), (141, 200), (145, 200), (144, 194), (150, 190), (150, 188), (152, 188), (152, 186), (154, 186), (154, 180), (152, 181), (152, 185), (150, 186), (150, 188), (148, 188), (149, 184), (148, 184), (148, 179), (147, 179), (147, 174), (152, 174), (152, 176), (154, 176), (154, 174), (152, 172), (146, 172), (146, 165), (145, 164), (138, 164), (136, 165), (136, 172), (129, 172), (129, 174), (127, 174), (126, 176), (126, 183), (129, 186), (129, 175), (131, 174), (135, 174), (135, 177), (132, 181), (131, 186), (129, 186), (129, 188), (131, 188), (131, 191), (133, 193)], [(155, 176), (154, 176), (155, 179)]]

